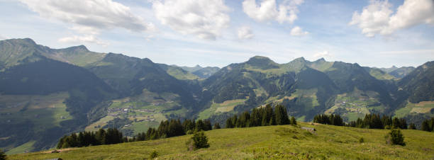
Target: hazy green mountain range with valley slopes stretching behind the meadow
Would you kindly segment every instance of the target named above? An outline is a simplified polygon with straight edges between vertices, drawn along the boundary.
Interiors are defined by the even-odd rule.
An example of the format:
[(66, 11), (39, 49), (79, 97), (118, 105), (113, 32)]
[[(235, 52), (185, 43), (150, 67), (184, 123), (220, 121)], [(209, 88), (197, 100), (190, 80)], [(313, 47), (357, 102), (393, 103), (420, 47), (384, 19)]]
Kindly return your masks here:
[(0, 41), (0, 148), (9, 154), (54, 147), (63, 135), (117, 127), (135, 135), (170, 118), (226, 118), (282, 104), (310, 121), (379, 113), (420, 124), (434, 116), (434, 62), (374, 68), (303, 57), (267, 57), (218, 67), (178, 67), (150, 59), (51, 49), (29, 38)]

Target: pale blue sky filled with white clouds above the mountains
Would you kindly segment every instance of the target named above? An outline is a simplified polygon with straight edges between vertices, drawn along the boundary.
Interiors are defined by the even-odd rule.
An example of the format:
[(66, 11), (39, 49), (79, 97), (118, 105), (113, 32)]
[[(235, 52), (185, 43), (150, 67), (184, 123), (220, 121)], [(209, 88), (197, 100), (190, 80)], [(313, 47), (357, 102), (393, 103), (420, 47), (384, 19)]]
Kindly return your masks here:
[(434, 60), (433, 0), (0, 0), (0, 39), (217, 66), (262, 55), (369, 67)]

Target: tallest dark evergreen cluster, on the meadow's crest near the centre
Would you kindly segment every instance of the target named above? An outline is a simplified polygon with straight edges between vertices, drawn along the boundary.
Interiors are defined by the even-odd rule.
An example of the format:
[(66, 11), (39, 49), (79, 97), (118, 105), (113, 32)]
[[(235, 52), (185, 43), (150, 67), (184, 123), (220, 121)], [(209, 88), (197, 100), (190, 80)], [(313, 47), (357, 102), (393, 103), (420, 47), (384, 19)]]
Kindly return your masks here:
[(291, 124), (296, 125), (296, 120), (294, 117), (289, 120), (283, 105), (276, 105), (273, 109), (269, 104), (265, 108), (253, 108), (251, 113), (245, 111), (226, 120), (227, 128)]

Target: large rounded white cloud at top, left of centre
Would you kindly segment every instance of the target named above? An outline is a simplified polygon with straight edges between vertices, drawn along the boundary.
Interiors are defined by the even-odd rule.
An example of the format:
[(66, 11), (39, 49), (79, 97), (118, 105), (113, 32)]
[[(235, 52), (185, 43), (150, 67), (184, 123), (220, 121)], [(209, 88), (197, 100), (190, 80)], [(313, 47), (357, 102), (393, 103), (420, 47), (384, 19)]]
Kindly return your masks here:
[(215, 40), (230, 22), (223, 0), (152, 1), (152, 8), (162, 24), (202, 39)]

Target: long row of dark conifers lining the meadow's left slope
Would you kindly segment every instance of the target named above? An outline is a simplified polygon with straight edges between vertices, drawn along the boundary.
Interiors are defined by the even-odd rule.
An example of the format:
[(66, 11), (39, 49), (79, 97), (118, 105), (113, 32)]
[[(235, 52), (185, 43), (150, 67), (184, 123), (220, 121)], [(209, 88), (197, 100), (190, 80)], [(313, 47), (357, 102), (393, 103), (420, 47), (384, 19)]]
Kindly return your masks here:
[[(96, 132), (79, 132), (65, 135), (59, 140), (57, 149), (69, 147), (87, 147), (103, 144), (118, 144), (123, 142), (145, 141), (150, 139), (162, 139), (180, 135), (192, 134), (201, 130), (212, 130), (210, 120), (165, 120), (160, 122), (157, 128), (150, 127), (147, 132), (138, 133), (134, 137), (123, 137), (122, 132), (116, 128), (107, 130), (99, 129)], [(214, 129), (220, 129), (220, 124), (214, 124)]]

